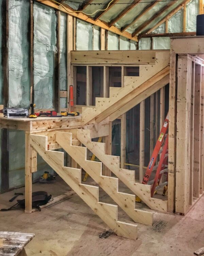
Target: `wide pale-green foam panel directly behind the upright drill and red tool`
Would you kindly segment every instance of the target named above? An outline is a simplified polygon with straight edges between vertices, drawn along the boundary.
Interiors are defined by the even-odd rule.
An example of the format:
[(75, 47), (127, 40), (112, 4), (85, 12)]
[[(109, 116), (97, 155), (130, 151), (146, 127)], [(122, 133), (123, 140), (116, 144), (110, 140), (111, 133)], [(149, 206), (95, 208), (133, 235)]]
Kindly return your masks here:
[(37, 109), (54, 107), (54, 55), (56, 14), (54, 9), (34, 2), (34, 88)]

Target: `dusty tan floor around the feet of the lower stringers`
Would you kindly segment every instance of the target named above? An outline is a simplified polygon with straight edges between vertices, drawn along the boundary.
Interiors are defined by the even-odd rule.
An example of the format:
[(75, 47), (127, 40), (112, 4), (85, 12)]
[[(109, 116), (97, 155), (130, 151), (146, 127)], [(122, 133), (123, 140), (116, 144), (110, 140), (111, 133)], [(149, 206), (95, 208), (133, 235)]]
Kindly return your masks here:
[[(33, 185), (33, 191), (45, 190), (58, 196), (70, 188), (59, 178), (52, 184)], [(8, 208), (14, 192), (0, 195), (0, 208)], [(101, 200), (109, 201), (101, 191)], [(19, 196), (19, 199), (21, 197)], [(77, 196), (52, 204), (41, 212), (25, 214), (22, 209), (0, 212), (0, 230), (35, 233), (26, 246), (28, 255), (35, 256), (192, 256), (204, 246), (204, 197), (185, 216), (155, 213), (154, 225), (160, 220), (166, 225), (156, 231), (138, 224), (136, 241), (112, 234), (107, 239), (99, 233), (108, 229), (106, 224)], [(119, 220), (131, 222), (119, 210)]]

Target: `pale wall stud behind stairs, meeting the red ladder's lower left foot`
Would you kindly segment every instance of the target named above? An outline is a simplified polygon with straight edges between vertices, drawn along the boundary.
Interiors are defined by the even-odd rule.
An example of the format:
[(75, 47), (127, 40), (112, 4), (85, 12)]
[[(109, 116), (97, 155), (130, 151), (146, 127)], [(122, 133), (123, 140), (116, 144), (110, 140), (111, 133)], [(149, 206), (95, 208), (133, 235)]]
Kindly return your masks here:
[(145, 100), (140, 103), (139, 121), (139, 182), (142, 183), (143, 166), (145, 165)]

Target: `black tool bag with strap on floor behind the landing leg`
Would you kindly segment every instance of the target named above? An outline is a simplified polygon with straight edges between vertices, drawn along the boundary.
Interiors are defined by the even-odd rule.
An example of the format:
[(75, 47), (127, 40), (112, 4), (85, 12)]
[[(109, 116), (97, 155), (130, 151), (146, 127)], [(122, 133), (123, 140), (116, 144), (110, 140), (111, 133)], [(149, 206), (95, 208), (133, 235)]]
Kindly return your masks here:
[[(45, 205), (47, 204), (52, 198), (52, 195), (48, 196), (48, 193), (45, 191), (36, 191), (32, 193), (32, 208), (36, 208), (39, 211), (41, 211), (40, 205)], [(17, 200), (17, 203), (14, 204), (12, 207), (8, 208), (8, 209), (1, 209), (0, 211), (9, 211), (12, 210), (16, 207), (18, 207), (18, 205), (20, 205), (20, 207), (22, 209), (25, 209), (25, 199), (22, 200)]]

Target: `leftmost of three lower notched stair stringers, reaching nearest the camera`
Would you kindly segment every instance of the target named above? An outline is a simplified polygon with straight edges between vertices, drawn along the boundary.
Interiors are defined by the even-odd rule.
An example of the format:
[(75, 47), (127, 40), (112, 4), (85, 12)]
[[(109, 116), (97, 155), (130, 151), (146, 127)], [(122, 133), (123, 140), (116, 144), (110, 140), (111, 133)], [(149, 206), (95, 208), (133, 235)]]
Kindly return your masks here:
[(47, 136), (30, 135), (30, 140), (34, 150), (118, 236), (137, 239), (137, 225), (118, 221), (118, 206), (99, 202), (99, 187), (82, 184), (81, 169), (65, 167), (63, 152), (47, 150)]

